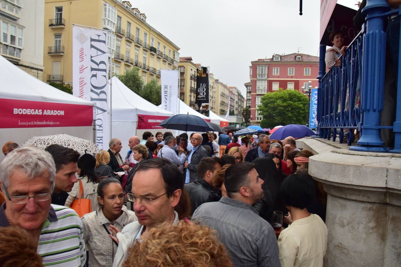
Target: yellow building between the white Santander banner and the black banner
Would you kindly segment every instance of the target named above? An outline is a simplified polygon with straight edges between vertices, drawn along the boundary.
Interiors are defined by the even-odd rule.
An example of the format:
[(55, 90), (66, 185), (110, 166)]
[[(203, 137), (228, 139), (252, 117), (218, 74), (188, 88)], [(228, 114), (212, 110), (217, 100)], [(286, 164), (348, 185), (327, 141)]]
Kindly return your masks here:
[(196, 70), (198, 66), (192, 62), (190, 56), (180, 57), (178, 70), (180, 70), (180, 99), (193, 109), (198, 109), (195, 105), (196, 97)]

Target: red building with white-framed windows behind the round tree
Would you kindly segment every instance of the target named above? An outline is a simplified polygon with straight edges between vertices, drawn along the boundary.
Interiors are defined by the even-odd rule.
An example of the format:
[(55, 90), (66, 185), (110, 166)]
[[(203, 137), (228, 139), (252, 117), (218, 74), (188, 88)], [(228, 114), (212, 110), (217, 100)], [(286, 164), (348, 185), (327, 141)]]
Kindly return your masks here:
[(271, 58), (251, 62), (249, 78), (251, 80), (251, 122), (260, 123), (262, 117), (256, 110), (261, 97), (267, 92), (299, 90), (302, 86), (318, 86), (319, 57), (308, 54), (274, 54)]

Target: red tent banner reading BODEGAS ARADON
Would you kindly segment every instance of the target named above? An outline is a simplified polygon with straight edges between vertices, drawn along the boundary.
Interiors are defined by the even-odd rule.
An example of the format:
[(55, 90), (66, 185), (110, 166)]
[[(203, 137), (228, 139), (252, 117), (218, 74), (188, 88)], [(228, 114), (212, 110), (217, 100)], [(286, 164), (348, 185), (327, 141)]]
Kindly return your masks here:
[(0, 128), (91, 126), (93, 107), (0, 98)]

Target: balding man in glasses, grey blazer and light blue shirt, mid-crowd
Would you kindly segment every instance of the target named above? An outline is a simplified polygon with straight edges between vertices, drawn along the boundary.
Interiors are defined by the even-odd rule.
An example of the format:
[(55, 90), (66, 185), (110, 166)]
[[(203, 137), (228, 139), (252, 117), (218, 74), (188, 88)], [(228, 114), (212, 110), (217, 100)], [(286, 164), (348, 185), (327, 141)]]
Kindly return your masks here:
[(201, 146), (203, 141), (202, 135), (194, 134), (190, 139), (193, 149), (188, 154), (188, 162), (184, 163), (185, 183), (192, 183), (196, 179), (198, 173), (198, 164), (201, 159), (209, 156), (207, 150)]

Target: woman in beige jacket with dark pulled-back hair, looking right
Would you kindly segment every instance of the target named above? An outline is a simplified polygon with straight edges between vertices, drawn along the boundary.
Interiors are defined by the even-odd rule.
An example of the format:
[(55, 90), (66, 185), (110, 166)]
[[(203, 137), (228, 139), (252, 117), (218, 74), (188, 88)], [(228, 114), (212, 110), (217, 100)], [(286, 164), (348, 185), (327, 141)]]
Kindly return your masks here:
[(101, 179), (97, 186), (97, 199), (99, 208), (81, 218), (85, 247), (89, 253), (89, 267), (111, 267), (117, 244), (109, 237), (110, 225), (121, 231), (137, 219), (134, 211), (127, 210), (123, 205), (124, 192), (117, 179)]

